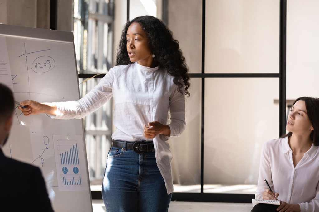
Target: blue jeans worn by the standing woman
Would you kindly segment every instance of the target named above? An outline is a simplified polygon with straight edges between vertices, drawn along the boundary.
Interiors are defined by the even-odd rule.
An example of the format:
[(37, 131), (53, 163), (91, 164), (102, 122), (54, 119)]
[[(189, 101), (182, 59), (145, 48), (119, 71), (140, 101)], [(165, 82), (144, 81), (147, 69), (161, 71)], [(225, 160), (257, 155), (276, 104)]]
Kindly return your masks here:
[(107, 212), (167, 212), (172, 194), (167, 194), (154, 151), (139, 155), (112, 147), (102, 197)]

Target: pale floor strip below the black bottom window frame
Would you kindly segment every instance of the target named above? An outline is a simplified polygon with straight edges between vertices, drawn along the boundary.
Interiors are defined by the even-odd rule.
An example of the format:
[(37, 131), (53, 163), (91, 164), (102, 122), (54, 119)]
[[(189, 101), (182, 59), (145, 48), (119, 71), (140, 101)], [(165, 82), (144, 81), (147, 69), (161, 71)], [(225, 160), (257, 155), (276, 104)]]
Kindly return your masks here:
[[(93, 212), (105, 212), (102, 200), (92, 200)], [(250, 212), (251, 203), (177, 202), (170, 203), (168, 212)]]

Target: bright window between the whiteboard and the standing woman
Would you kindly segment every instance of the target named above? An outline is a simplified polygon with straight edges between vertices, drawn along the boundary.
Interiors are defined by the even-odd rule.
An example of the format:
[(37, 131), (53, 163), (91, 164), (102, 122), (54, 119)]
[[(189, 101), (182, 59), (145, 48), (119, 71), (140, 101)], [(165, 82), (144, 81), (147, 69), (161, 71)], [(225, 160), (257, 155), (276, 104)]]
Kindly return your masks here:
[[(106, 73), (113, 66), (114, 4), (111, 0), (74, 0), (73, 11), (80, 92), (84, 96), (100, 81), (88, 77)], [(91, 189), (99, 190), (111, 144), (112, 101), (86, 116), (84, 126)]]

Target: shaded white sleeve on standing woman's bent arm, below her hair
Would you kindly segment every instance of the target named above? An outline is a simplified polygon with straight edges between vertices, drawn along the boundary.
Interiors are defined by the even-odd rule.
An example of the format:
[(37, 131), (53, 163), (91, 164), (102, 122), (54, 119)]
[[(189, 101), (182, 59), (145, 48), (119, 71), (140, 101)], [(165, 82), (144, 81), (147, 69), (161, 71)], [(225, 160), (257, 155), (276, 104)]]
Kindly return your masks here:
[(177, 85), (174, 86), (175, 90), (170, 96), (169, 111), (171, 114), (170, 124), (168, 126), (171, 128), (171, 136), (179, 136), (185, 130), (185, 95), (184, 86), (182, 88), (182, 93), (177, 90)]

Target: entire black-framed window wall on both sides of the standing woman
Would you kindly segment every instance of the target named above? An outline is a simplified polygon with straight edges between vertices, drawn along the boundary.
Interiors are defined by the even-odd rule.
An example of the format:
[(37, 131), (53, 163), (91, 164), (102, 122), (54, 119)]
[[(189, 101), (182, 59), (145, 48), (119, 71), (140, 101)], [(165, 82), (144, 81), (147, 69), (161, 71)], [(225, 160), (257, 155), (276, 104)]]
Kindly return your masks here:
[[(74, 0), (80, 82), (112, 67), (116, 18), (125, 13), (127, 19), (140, 15), (162, 19), (180, 42), (191, 77), (186, 130), (169, 141), (174, 155), (172, 200), (250, 202), (262, 145), (285, 132), (286, 1), (117, 3), (121, 12), (113, 15), (116, 5), (111, 1)], [(114, 34), (118, 40), (121, 30)], [(81, 94), (102, 76), (81, 84)], [(111, 142), (111, 123), (111, 101), (85, 118), (90, 179), (99, 185), (97, 190)], [(93, 196), (101, 198), (100, 193)]]

